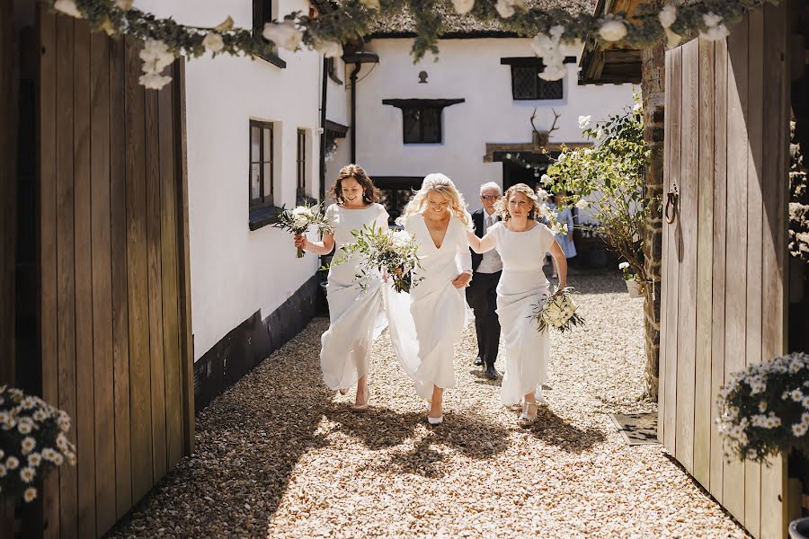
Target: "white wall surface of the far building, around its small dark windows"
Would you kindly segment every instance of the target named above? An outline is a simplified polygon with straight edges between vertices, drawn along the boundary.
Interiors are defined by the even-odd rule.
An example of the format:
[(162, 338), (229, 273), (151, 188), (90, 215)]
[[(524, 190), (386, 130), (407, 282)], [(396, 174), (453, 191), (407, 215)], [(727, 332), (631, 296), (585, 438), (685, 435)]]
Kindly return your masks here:
[[(470, 208), (477, 204), (478, 187), (485, 181), (502, 181), (502, 163), (484, 163), (485, 145), (525, 143), (531, 140), (529, 118), (538, 107), (539, 130), (550, 128), (561, 113), (551, 142), (582, 142), (580, 115), (606, 118), (632, 104), (632, 85), (580, 86), (576, 64), (567, 64), (564, 99), (514, 101), (511, 66), (502, 57), (532, 57), (525, 39), (442, 40), (440, 56), (431, 55), (418, 65), (410, 56), (412, 40), (372, 40), (367, 49), (379, 56), (371, 72), (363, 66), (358, 84), (357, 161), (376, 176), (424, 176), (444, 172), (458, 185)], [(351, 66), (349, 66), (351, 67)], [(426, 71), (427, 84), (419, 84)], [(365, 78), (363, 78), (365, 77)], [(383, 105), (383, 99), (455, 99), (443, 112), (443, 143), (405, 145), (402, 111)]]

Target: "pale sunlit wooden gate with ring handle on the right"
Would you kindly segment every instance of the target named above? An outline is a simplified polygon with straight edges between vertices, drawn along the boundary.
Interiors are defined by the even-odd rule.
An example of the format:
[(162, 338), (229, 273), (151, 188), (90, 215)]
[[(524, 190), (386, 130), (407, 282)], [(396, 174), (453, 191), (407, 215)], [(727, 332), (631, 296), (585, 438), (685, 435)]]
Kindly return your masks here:
[[(716, 395), (786, 350), (787, 3), (666, 53), (659, 437), (756, 537), (786, 535), (786, 466), (726, 463)], [(665, 201), (664, 201), (665, 202)]]

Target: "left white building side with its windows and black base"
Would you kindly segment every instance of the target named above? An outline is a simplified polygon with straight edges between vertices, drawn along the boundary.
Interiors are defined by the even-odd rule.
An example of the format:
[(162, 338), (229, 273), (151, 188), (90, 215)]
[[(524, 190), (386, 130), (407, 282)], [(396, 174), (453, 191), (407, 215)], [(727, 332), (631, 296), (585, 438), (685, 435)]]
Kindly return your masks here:
[[(138, 0), (193, 25), (256, 27), (306, 0)], [(297, 333), (316, 311), (318, 257), (296, 258), (277, 208), (320, 192), (323, 57), (188, 61), (191, 319), (198, 408)]]

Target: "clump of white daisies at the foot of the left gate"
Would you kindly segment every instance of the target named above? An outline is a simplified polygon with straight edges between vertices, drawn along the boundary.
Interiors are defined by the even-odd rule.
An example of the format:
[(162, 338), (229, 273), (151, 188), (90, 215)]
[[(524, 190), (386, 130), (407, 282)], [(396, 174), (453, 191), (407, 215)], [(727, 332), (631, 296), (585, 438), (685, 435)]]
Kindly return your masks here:
[(39, 397), (0, 387), (0, 499), (26, 503), (37, 498), (34, 486), (66, 460), (76, 465), (76, 447), (65, 436), (70, 417)]

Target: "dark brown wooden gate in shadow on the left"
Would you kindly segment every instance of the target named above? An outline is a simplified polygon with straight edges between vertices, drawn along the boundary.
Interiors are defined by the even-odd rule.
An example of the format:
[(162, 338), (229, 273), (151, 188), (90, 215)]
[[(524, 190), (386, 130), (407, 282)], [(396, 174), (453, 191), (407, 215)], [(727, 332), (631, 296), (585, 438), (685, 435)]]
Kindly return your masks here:
[(44, 492), (45, 535), (106, 532), (193, 444), (182, 63), (138, 84), (138, 47), (38, 18), (42, 393), (78, 464)]

